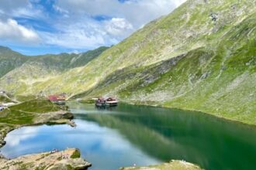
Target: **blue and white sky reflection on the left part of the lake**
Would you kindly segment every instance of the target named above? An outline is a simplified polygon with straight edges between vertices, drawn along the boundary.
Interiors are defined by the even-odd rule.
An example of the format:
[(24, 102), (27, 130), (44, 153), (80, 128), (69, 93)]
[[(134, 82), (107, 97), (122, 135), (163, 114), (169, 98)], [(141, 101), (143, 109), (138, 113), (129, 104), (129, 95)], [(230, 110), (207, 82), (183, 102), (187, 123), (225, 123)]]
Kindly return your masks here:
[[(92, 170), (118, 169), (121, 166), (156, 164), (156, 158), (144, 154), (123, 138), (117, 131), (99, 127), (98, 124), (76, 120), (77, 128), (67, 125), (19, 128), (8, 134), (7, 144), (1, 149), (8, 158), (53, 148), (80, 148), (81, 155), (92, 162)], [(29, 138), (23, 138), (33, 129)], [(19, 139), (15, 144), (12, 140)]]

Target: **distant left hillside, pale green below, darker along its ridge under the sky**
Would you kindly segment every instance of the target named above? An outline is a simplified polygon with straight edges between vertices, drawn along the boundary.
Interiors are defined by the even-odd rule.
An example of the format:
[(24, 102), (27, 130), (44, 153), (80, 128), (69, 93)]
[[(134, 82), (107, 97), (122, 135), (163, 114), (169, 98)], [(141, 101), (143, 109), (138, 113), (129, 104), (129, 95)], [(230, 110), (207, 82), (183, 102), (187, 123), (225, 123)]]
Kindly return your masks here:
[(75, 67), (85, 66), (106, 49), (108, 47), (99, 47), (80, 54), (61, 53), (59, 55), (24, 56), (26, 62), (22, 63), (21, 66), (16, 66), (3, 76), (0, 80), (0, 87), (16, 94), (31, 94), (30, 88), (35, 84), (50, 80)]

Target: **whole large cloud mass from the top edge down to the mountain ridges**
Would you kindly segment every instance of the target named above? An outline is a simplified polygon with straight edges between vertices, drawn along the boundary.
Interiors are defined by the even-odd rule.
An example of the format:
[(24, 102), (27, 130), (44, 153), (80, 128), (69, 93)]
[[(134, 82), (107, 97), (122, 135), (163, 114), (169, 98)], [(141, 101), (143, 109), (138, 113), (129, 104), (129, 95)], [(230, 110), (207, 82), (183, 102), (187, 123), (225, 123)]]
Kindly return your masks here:
[[(46, 43), (74, 49), (110, 46), (130, 36), (153, 19), (167, 15), (185, 0), (57, 0), (54, 8), (63, 13), (55, 33), (43, 32)], [(106, 16), (103, 21), (92, 19)]]

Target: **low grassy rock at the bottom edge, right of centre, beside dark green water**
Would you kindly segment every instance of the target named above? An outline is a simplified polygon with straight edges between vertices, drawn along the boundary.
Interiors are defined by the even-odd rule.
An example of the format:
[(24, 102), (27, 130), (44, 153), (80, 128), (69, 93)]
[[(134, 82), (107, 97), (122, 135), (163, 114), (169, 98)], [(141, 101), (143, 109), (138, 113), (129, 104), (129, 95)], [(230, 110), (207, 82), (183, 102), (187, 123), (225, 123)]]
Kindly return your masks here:
[(185, 161), (175, 161), (172, 160), (169, 163), (164, 163), (161, 165), (151, 165), (147, 167), (129, 167), (120, 168), (120, 170), (199, 170), (199, 166), (193, 165)]

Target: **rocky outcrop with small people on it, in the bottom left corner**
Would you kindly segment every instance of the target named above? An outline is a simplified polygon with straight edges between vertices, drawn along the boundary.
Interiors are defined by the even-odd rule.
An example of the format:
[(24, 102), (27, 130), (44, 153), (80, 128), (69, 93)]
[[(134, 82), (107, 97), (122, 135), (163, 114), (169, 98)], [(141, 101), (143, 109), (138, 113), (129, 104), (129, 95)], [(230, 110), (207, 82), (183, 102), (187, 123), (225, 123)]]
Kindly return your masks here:
[(0, 169), (87, 169), (92, 164), (80, 158), (78, 149), (50, 151), (40, 154), (24, 155), (19, 158), (0, 158)]

